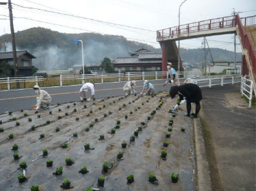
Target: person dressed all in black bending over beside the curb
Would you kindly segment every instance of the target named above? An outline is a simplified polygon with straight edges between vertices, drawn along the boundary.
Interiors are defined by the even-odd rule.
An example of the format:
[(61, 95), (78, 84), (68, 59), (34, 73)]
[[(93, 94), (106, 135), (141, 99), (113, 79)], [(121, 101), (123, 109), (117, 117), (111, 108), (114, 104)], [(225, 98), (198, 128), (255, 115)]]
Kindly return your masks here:
[[(200, 101), (202, 100), (202, 92), (198, 85), (194, 85), (192, 83), (187, 83), (185, 85), (180, 86), (172, 86), (170, 88), (170, 97), (174, 99), (174, 97), (179, 94), (180, 101), (182, 101), (185, 97), (185, 101), (187, 101), (187, 117), (197, 118), (198, 113), (200, 111), (201, 105)], [(196, 112), (195, 114), (191, 114), (191, 103), (196, 103)]]

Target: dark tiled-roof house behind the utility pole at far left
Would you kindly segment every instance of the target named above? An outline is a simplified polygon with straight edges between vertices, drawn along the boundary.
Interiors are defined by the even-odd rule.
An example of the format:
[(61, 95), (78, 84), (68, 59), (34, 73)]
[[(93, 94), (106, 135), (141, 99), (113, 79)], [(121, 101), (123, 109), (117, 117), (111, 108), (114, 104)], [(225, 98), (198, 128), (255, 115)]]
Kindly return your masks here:
[[(36, 57), (27, 50), (23, 51), (17, 51), (17, 76), (30, 76), (33, 74), (33, 68), (32, 65), (32, 59), (35, 59)], [(10, 71), (10, 75), (8, 77), (14, 76), (14, 59), (13, 59), (13, 53), (12, 52), (0, 52), (0, 66), (3, 65), (3, 63), (8, 64), (8, 70)], [(0, 67), (0, 74), (6, 75), (5, 72), (3, 72)]]

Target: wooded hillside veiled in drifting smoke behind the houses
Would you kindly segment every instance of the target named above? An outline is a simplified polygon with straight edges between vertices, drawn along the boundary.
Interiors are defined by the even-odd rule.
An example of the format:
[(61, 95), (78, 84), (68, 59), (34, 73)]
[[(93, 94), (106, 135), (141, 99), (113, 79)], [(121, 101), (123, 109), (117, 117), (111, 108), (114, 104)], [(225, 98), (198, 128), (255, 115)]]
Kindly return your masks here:
[[(145, 47), (152, 51), (161, 52), (160, 48), (128, 41), (125, 37), (117, 35), (101, 35), (94, 33), (64, 34), (47, 28), (30, 28), (16, 33), (17, 50), (28, 50), (37, 58), (34, 66), (40, 70), (66, 70), (73, 65), (81, 63), (81, 48), (76, 48), (74, 39), (78, 37), (84, 43), (85, 63), (99, 65), (104, 57), (115, 59), (116, 57), (128, 56), (129, 52)], [(4, 52), (6, 43), (7, 51), (12, 51), (11, 35), (0, 36), (0, 52)], [(227, 59), (233, 61), (234, 53), (220, 48), (211, 49), (214, 59)], [(190, 63), (204, 61), (203, 49), (183, 49), (181, 57)], [(237, 54), (240, 60), (240, 54)]]

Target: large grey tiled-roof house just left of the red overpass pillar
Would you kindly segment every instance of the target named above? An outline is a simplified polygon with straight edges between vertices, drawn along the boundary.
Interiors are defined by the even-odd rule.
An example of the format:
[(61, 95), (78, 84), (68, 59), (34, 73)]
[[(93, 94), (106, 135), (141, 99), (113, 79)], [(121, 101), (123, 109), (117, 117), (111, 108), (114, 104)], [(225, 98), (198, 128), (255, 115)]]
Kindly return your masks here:
[(113, 61), (115, 72), (143, 72), (161, 71), (162, 54), (152, 52), (146, 48), (140, 48), (130, 52), (128, 57), (117, 57)]

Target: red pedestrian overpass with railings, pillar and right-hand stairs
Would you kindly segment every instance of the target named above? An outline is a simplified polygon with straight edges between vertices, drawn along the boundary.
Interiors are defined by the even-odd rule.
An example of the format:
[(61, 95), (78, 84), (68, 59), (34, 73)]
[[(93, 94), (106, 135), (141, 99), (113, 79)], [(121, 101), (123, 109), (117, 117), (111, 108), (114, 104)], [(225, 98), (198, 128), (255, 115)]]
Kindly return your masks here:
[[(162, 71), (167, 70), (167, 62), (178, 68), (178, 48), (176, 41), (212, 35), (237, 34), (242, 46), (242, 75), (250, 75), (255, 91), (256, 79), (256, 15), (240, 18), (239, 14), (174, 26), (157, 30), (157, 41), (162, 49)], [(181, 58), (180, 63), (181, 63)], [(182, 63), (180, 65), (183, 70)]]

